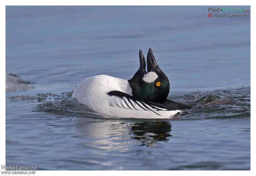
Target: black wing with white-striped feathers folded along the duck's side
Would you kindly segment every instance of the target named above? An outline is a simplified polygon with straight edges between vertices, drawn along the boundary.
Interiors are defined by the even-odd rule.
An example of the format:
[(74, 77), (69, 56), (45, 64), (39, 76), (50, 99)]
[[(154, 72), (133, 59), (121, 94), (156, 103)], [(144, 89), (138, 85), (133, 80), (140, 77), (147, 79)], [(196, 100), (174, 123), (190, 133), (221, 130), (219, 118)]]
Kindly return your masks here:
[[(176, 111), (191, 109), (191, 107), (183, 105), (181, 103), (174, 102), (166, 99), (163, 103), (154, 103), (147, 100), (131, 96), (121, 91), (110, 91), (107, 93), (109, 96), (115, 96), (116, 99), (111, 106), (132, 109), (138, 111), (152, 111), (158, 115), (161, 115), (159, 111)], [(113, 104), (114, 103), (114, 104)]]

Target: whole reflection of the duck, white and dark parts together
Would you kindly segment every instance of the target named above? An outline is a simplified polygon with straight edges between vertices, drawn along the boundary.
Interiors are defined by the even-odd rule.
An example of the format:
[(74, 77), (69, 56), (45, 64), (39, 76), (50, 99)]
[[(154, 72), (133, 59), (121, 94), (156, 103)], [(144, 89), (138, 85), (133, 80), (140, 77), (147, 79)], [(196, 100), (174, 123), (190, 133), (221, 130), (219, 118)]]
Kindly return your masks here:
[[(139, 140), (139, 145), (151, 146), (157, 141), (168, 141), (172, 136), (169, 120), (138, 119), (83, 119), (77, 120), (76, 138), (86, 138), (86, 146), (100, 149), (124, 149)], [(83, 125), (84, 124), (84, 125)], [(90, 142), (89, 142), (89, 141)]]

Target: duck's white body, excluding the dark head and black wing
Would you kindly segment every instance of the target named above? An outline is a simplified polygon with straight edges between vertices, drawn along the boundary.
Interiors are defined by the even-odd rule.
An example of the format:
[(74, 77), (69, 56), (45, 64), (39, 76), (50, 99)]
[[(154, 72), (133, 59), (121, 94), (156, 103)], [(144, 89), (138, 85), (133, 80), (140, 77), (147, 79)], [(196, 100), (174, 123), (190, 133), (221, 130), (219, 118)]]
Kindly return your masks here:
[(143, 106), (140, 102), (132, 99), (109, 96), (107, 93), (110, 91), (121, 91), (132, 96), (132, 88), (127, 80), (108, 75), (97, 75), (80, 82), (72, 97), (94, 111), (124, 118), (166, 119), (172, 118), (177, 112), (180, 112), (180, 110), (166, 111), (163, 108), (158, 108), (157, 111), (146, 103)]

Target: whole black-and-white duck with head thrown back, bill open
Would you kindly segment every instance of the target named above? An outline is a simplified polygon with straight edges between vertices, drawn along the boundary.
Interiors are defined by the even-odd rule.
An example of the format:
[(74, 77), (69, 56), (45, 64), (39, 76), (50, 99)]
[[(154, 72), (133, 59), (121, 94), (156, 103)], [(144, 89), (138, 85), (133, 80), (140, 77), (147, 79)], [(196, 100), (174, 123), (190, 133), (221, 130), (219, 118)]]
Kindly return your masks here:
[(167, 99), (170, 82), (149, 48), (146, 60), (139, 51), (140, 67), (130, 80), (96, 75), (81, 81), (72, 94), (89, 109), (114, 117), (169, 119), (192, 107)]

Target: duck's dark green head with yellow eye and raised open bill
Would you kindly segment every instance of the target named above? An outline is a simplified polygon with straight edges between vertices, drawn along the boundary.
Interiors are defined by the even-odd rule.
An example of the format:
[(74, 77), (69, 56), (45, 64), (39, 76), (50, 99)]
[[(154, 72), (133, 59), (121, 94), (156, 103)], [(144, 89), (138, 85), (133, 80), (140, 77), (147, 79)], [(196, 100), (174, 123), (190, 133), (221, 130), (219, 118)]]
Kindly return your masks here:
[(128, 80), (132, 88), (132, 96), (157, 103), (163, 102), (170, 91), (170, 83), (167, 76), (156, 64), (156, 59), (150, 48), (147, 55), (148, 73), (146, 71), (145, 57), (141, 50), (139, 57), (139, 70), (132, 79)]

